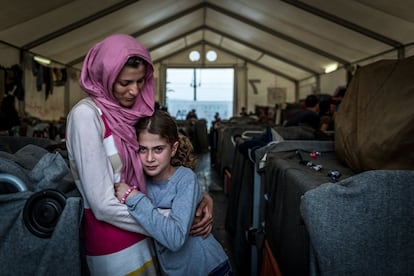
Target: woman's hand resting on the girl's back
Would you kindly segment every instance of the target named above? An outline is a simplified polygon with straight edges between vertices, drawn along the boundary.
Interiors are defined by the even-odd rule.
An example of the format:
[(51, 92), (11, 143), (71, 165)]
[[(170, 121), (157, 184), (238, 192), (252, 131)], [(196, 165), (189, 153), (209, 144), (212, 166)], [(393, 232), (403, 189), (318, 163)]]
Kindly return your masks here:
[(191, 226), (190, 234), (202, 236), (203, 239), (213, 230), (213, 199), (207, 193), (203, 193), (203, 199), (197, 206), (196, 215)]

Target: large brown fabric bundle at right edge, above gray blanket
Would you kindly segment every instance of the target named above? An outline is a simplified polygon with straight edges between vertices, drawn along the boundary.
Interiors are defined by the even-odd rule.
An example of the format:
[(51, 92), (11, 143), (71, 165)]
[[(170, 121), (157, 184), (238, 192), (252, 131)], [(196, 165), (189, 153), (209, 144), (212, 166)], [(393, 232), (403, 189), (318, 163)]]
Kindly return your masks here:
[(335, 151), (354, 172), (414, 169), (414, 57), (357, 70), (335, 118)]

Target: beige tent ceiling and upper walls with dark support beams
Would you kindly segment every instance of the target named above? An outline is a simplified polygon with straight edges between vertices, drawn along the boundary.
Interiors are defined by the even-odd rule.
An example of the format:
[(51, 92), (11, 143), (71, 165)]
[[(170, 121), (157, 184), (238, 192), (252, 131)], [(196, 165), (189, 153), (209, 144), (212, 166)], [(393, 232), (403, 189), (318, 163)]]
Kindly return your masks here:
[[(384, 0), (13, 1), (0, 11), (0, 65), (24, 71), (21, 109), (58, 119), (84, 96), (77, 82), (88, 49), (126, 33), (151, 53), (160, 103), (166, 68), (235, 68), (236, 114), (243, 106), (267, 105), (271, 88), (281, 88), (288, 103), (333, 94), (355, 66), (413, 55), (413, 8), (411, 1)], [(218, 58), (209, 62), (201, 55), (191, 62), (191, 50), (215, 50)], [(47, 97), (37, 93), (35, 55), (68, 73)], [(328, 66), (336, 70), (325, 73)]]

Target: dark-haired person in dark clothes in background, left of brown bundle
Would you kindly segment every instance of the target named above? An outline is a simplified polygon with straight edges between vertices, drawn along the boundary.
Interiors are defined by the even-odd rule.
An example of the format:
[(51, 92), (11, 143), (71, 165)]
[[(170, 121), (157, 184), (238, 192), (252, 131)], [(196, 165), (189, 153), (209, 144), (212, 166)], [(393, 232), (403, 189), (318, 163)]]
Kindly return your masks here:
[(305, 99), (305, 109), (299, 110), (285, 123), (289, 126), (308, 126), (314, 129), (320, 128), (319, 99), (315, 95), (308, 95)]

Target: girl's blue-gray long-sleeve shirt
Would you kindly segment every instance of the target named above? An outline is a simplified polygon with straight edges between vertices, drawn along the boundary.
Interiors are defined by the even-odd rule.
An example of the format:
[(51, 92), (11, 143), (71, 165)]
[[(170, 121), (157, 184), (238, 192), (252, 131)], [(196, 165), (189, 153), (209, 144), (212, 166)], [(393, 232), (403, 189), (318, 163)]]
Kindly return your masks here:
[[(148, 196), (148, 197), (147, 197)], [(138, 193), (126, 204), (131, 215), (156, 240), (164, 275), (208, 275), (227, 260), (220, 243), (189, 234), (197, 204), (202, 198), (196, 174), (178, 167), (164, 182), (147, 184), (147, 196)]]

